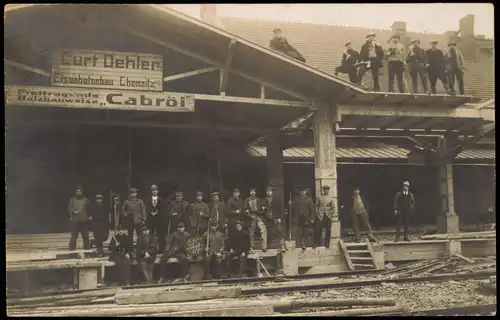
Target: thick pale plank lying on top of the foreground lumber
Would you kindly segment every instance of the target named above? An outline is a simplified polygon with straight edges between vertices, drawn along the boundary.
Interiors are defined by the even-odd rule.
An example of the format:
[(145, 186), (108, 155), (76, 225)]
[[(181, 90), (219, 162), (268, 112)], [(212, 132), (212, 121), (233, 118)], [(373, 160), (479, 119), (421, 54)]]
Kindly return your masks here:
[(121, 292), (116, 295), (115, 302), (118, 305), (149, 304), (163, 302), (198, 301), (220, 298), (238, 298), (240, 295), (241, 288), (210, 288), (203, 290), (176, 290), (171, 292), (143, 292), (139, 294)]

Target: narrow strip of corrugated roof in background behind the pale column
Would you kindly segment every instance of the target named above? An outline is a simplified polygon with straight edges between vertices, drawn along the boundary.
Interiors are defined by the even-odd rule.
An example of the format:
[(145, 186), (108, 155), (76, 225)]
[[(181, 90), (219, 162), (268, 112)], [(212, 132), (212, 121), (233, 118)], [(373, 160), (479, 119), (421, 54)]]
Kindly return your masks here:
[[(248, 154), (252, 157), (265, 157), (266, 148), (260, 146), (249, 146)], [(404, 148), (338, 148), (339, 158), (350, 159), (407, 159), (410, 151)], [(283, 150), (285, 158), (314, 158), (314, 148), (289, 148)], [(495, 150), (465, 150), (458, 156), (458, 160), (494, 160)]]

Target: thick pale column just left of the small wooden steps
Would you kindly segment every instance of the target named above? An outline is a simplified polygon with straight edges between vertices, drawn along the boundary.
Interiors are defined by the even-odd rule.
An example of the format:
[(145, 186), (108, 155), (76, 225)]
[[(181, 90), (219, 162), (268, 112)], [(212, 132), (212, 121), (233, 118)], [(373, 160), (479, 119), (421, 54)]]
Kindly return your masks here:
[(328, 194), (334, 204), (330, 248), (340, 240), (340, 221), (338, 214), (337, 157), (335, 132), (338, 124), (337, 106), (320, 105), (313, 119), (314, 125), (314, 179), (316, 197), (321, 195), (322, 187), (329, 186)]

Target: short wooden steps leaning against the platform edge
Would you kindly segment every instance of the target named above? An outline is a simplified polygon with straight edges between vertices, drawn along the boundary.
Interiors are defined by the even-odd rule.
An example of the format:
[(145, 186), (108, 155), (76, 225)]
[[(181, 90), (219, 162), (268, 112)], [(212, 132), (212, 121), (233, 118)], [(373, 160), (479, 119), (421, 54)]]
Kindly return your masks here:
[(351, 271), (377, 269), (373, 250), (368, 240), (362, 243), (345, 243), (340, 240), (339, 244)]

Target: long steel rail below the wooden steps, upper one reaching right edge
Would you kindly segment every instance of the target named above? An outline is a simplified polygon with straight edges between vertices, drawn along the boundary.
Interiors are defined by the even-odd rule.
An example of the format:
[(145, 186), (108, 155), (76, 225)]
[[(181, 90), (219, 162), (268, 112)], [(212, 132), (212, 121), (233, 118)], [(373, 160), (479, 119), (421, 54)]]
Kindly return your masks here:
[(338, 282), (338, 283), (316, 283), (316, 284), (302, 284), (291, 286), (276, 286), (266, 288), (248, 288), (241, 290), (242, 296), (254, 296), (260, 294), (286, 294), (290, 292), (309, 292), (309, 291), (322, 291), (327, 289), (351, 289), (362, 288), (366, 286), (378, 286), (382, 283), (416, 283), (416, 282), (439, 282), (447, 280), (471, 280), (471, 279), (488, 279), (490, 276), (496, 275), (496, 270), (486, 272), (475, 272), (466, 274), (445, 274), (436, 276), (425, 277), (408, 277), (408, 278), (395, 278), (395, 279), (372, 279), (362, 281)]

